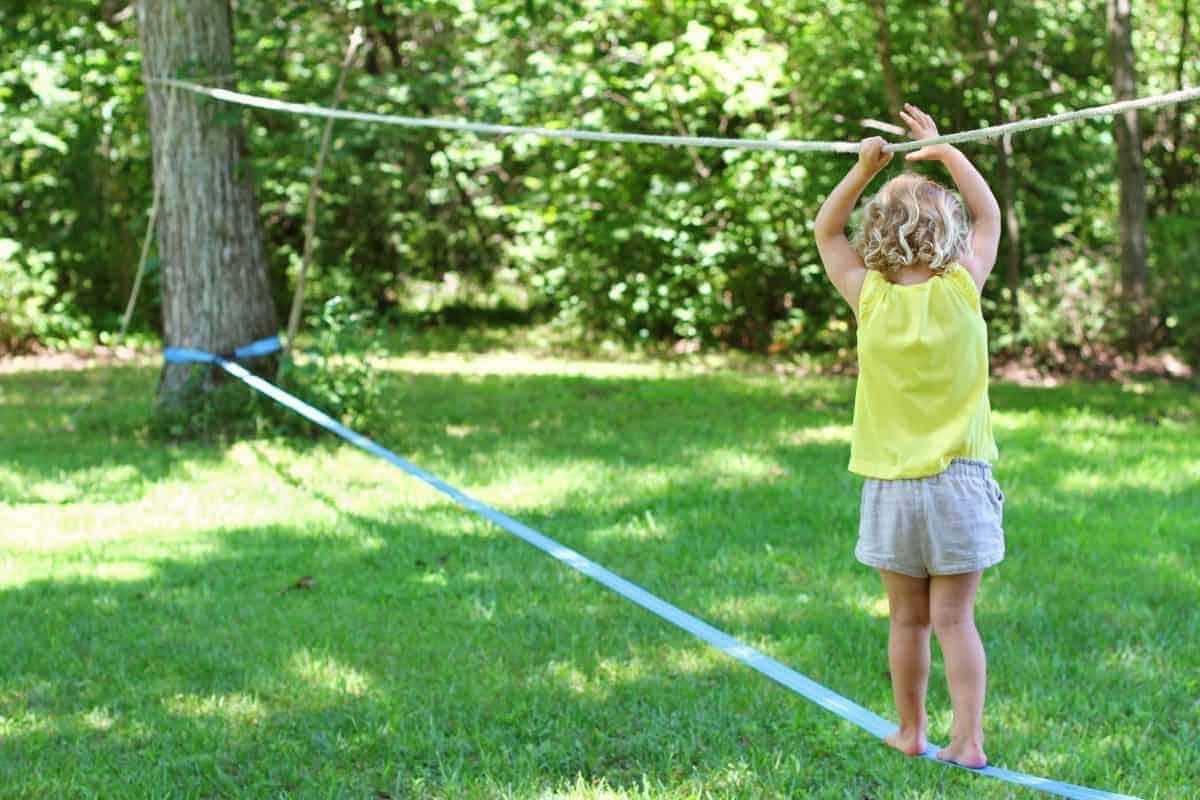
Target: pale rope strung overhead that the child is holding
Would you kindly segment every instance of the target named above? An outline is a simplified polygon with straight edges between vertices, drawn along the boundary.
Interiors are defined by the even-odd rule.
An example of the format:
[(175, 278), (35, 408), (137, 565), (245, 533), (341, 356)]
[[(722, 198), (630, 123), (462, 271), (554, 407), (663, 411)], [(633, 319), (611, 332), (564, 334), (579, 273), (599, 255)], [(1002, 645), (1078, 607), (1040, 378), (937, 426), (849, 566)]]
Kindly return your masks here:
[[(446, 131), (466, 131), (469, 133), (482, 133), (488, 136), (536, 136), (552, 139), (572, 139), (581, 142), (613, 142), (624, 144), (656, 144), (664, 146), (690, 146), (690, 148), (722, 148), (734, 150), (784, 150), (792, 152), (858, 152), (858, 142), (804, 142), (797, 139), (724, 139), (714, 137), (692, 136), (660, 136), (650, 133), (612, 133), (608, 131), (581, 131), (572, 128), (547, 128), (528, 127), (521, 125), (493, 125), (490, 122), (469, 122), (462, 120), (448, 120), (426, 116), (401, 116), (396, 114), (373, 114), (368, 112), (349, 112), (340, 108), (328, 108), (324, 106), (312, 106), (306, 103), (292, 103), (269, 97), (258, 97), (240, 91), (202, 86), (188, 80), (175, 80), (173, 78), (149, 78), (150, 83), (158, 83), (167, 86), (176, 86), (187, 91), (204, 95), (214, 100), (251, 108), (260, 108), (268, 112), (282, 112), (287, 114), (302, 114), (305, 116), (324, 116), (338, 120), (353, 120), (358, 122), (378, 122), (382, 125), (398, 125), (415, 128), (439, 128)], [(955, 144), (959, 142), (974, 142), (979, 139), (994, 139), (1019, 131), (1031, 131), (1052, 125), (1062, 125), (1075, 120), (1093, 119), (1098, 116), (1114, 116), (1130, 110), (1147, 108), (1159, 108), (1162, 106), (1174, 106), (1200, 100), (1200, 86), (1181, 89), (1165, 95), (1153, 95), (1151, 97), (1139, 97), (1126, 100), (1108, 106), (1094, 106), (1081, 108), (1074, 112), (1039, 116), (1028, 120), (1018, 120), (1004, 125), (992, 125), (990, 127), (976, 128), (973, 131), (960, 131), (947, 133), (931, 139), (919, 142), (894, 142), (884, 145), (884, 152), (904, 152), (907, 150), (919, 150), (935, 144)]]

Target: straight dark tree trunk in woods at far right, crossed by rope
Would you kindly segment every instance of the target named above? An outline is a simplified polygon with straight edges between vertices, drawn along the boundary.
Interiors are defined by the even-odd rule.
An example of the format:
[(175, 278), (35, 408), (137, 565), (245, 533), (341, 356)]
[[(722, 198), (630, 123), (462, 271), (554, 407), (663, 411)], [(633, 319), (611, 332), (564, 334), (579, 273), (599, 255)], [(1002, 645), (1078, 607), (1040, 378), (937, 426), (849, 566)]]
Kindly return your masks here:
[[(1109, 61), (1115, 100), (1138, 96), (1134, 66), (1132, 0), (1108, 0)], [(1130, 336), (1140, 348), (1150, 336), (1146, 297), (1146, 170), (1138, 112), (1114, 118), (1117, 174), (1121, 181), (1121, 291), (1130, 313)]]

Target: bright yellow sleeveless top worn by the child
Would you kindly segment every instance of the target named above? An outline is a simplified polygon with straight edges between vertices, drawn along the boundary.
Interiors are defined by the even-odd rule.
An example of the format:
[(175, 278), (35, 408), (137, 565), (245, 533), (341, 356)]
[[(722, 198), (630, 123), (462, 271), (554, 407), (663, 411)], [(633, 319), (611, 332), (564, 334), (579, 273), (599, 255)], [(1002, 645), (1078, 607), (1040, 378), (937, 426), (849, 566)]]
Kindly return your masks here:
[(936, 475), (955, 457), (998, 457), (988, 402), (988, 326), (960, 264), (900, 285), (870, 270), (858, 301), (850, 471)]

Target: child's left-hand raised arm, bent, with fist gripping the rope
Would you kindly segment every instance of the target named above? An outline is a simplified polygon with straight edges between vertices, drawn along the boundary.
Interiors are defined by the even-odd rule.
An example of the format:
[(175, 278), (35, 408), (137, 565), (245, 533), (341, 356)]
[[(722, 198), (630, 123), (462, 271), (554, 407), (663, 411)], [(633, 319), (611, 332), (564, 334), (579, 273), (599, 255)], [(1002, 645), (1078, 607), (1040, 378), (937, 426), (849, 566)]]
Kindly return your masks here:
[(812, 224), (812, 235), (817, 240), (817, 251), (821, 253), (826, 275), (856, 315), (858, 296), (863, 291), (863, 281), (866, 279), (866, 265), (846, 239), (846, 223), (868, 184), (892, 161), (892, 154), (883, 152), (883, 144), (880, 137), (863, 140), (858, 151), (858, 163), (826, 198)]

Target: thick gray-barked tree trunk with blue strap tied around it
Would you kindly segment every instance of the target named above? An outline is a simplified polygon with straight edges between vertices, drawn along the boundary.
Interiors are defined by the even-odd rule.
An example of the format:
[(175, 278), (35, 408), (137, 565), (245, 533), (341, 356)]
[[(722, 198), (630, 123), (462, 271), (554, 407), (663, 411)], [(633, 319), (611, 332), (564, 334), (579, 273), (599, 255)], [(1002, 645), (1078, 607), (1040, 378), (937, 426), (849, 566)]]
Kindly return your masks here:
[[(140, 0), (143, 77), (211, 82), (233, 71), (229, 0)], [(184, 71), (187, 71), (184, 73)], [(168, 130), (168, 92), (179, 92)], [(155, 175), (162, 187), (158, 252), (167, 347), (224, 353), (278, 332), (258, 198), (247, 174), (245, 134), (227, 109), (146, 82)], [(257, 363), (269, 374), (272, 363)], [(163, 367), (158, 401), (180, 405), (208, 392), (193, 365)]]

